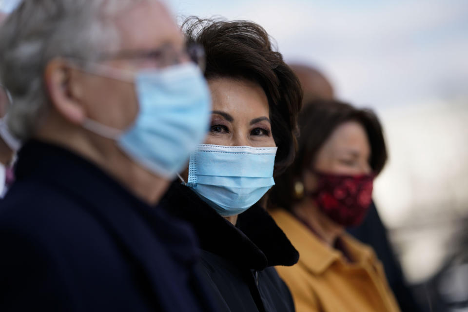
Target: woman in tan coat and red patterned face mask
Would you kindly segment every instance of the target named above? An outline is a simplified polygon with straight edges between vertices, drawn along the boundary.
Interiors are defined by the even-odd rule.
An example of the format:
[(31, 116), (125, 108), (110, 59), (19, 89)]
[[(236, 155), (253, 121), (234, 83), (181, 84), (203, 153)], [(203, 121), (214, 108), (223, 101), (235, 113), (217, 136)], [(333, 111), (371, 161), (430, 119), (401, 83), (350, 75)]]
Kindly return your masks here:
[(378, 118), (338, 101), (299, 115), (294, 163), (276, 179), (269, 208), (301, 257), (277, 267), (298, 312), (394, 312), (398, 305), (372, 249), (345, 228), (358, 225), (387, 160)]

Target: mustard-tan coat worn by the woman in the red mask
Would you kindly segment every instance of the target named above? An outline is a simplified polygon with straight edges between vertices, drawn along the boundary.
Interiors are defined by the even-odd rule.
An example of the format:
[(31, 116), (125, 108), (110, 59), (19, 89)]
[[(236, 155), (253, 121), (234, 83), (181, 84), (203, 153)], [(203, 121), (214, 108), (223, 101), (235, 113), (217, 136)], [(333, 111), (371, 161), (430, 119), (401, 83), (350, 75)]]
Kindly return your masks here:
[(289, 212), (272, 216), (299, 251), (292, 267), (276, 267), (289, 286), (297, 312), (398, 312), (398, 304), (373, 250), (348, 234), (341, 239), (350, 263), (321, 242)]

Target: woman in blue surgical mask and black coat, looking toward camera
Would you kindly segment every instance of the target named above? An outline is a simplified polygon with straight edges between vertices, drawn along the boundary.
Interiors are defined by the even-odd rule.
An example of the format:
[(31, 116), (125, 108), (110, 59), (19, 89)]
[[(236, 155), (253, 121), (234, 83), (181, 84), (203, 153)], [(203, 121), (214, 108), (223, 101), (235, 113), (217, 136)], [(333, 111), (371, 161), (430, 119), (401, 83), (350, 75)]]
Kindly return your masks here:
[(219, 311), (294, 311), (273, 266), (298, 253), (258, 202), (294, 158), (299, 81), (253, 22), (190, 18), (182, 28), (205, 50), (212, 121), (161, 204), (198, 234)]

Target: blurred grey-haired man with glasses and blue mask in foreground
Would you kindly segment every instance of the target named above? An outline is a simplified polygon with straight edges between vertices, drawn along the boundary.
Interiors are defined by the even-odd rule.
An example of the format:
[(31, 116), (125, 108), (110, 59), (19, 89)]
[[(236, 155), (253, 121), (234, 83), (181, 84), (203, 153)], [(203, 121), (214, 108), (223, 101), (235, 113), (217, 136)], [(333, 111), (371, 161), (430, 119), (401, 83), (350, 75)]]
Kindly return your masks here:
[(26, 0), (0, 28), (8, 128), (0, 311), (212, 311), (190, 226), (157, 203), (210, 92), (154, 0)]

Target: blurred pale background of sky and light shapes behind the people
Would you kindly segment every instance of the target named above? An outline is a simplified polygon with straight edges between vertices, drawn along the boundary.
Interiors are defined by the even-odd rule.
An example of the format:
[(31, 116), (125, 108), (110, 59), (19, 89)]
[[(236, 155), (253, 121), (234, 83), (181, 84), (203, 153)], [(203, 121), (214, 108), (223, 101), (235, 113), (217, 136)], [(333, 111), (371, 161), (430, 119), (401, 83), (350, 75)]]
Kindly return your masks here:
[(378, 113), (390, 161), (374, 199), (403, 271), (428, 311), (438, 298), (468, 311), (468, 1), (167, 3), (179, 21), (261, 24), (287, 61)]

